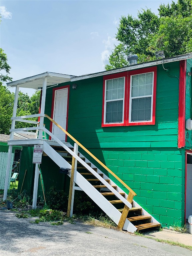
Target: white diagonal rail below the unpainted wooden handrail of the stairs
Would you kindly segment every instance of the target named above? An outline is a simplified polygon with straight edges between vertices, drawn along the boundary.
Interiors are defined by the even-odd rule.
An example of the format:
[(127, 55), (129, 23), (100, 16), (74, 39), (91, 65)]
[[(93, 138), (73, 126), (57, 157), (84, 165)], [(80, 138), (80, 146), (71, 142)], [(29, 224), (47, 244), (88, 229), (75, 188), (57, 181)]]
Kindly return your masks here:
[(70, 148), (68, 148), (63, 142), (61, 142), (55, 135), (53, 135), (49, 130), (44, 128), (44, 131), (51, 136), (59, 145), (66, 149), (69, 154), (74, 156), (87, 170), (89, 170), (97, 179), (99, 179), (111, 192), (115, 194), (125, 205), (132, 208), (132, 205), (121, 195), (119, 194), (106, 180), (104, 180), (96, 171), (94, 171), (85, 161), (83, 161), (78, 155), (76, 155)]

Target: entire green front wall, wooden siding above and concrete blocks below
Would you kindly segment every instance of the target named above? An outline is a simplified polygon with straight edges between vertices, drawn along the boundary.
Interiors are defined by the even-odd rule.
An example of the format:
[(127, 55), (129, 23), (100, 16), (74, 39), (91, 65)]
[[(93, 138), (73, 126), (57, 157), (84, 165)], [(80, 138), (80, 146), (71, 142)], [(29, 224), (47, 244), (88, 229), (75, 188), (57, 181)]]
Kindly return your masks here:
[[(165, 64), (165, 68), (169, 68), (170, 75), (179, 76), (179, 62)], [(162, 65), (157, 66), (155, 125), (104, 128), (101, 127), (103, 77), (77, 81), (76, 90), (72, 89), (72, 83), (60, 86), (68, 84), (68, 132), (124, 180), (137, 193), (135, 200), (160, 223), (183, 225), (185, 160), (184, 150), (177, 148), (178, 80), (169, 77)], [(48, 115), (51, 102), (52, 88), (47, 89), (46, 95)], [(45, 124), (49, 129), (46, 119)], [(42, 166), (42, 169), (47, 166), (47, 176), (53, 177), (48, 162)], [(56, 172), (55, 176), (59, 178)], [(57, 178), (50, 178), (47, 183), (57, 183)], [(59, 186), (64, 182), (60, 181)]]

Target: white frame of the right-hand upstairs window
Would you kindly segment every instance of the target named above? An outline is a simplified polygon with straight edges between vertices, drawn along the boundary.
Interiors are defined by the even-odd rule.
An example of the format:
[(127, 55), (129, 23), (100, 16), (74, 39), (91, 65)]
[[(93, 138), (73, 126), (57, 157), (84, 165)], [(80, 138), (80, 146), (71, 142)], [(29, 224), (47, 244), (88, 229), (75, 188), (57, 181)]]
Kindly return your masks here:
[[(133, 76), (137, 76), (137, 75), (148, 74), (148, 73), (153, 73), (153, 80), (152, 80), (152, 94), (151, 94), (151, 95), (144, 95), (144, 96), (132, 97), (132, 96), (131, 96), (131, 93), (132, 93), (132, 77), (133, 77)], [(153, 118), (153, 93), (154, 93), (154, 71), (146, 72), (146, 73), (141, 73), (141, 74), (136, 74), (136, 75), (131, 75), (131, 76), (130, 76), (129, 123), (150, 123), (150, 122), (152, 122), (152, 118)], [(132, 107), (132, 99), (148, 98), (148, 97), (151, 97), (151, 120), (131, 121), (131, 107)]]

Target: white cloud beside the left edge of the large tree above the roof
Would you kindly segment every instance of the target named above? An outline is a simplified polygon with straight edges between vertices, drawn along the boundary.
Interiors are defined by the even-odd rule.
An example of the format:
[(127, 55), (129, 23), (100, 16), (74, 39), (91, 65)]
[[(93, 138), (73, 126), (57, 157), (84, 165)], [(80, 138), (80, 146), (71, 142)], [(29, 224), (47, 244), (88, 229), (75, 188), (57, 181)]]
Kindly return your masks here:
[(117, 40), (114, 37), (108, 36), (107, 40), (103, 40), (103, 43), (105, 45), (105, 50), (101, 53), (101, 61), (104, 68), (105, 65), (108, 64), (108, 58), (111, 51), (115, 48), (114, 44), (117, 43)]

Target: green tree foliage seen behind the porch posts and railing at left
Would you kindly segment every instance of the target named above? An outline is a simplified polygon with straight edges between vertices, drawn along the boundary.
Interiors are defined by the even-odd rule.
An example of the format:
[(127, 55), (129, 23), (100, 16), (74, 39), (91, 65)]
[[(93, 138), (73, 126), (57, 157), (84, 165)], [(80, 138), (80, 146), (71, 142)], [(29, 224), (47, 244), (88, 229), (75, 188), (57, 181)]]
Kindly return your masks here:
[[(40, 91), (36, 91), (31, 97), (26, 93), (19, 92), (17, 104), (17, 116), (31, 115), (39, 113)], [(10, 134), (11, 117), (13, 115), (14, 93), (0, 84), (0, 133)], [(37, 118), (29, 118), (37, 121)], [(16, 122), (15, 128), (32, 127), (33, 124)]]

